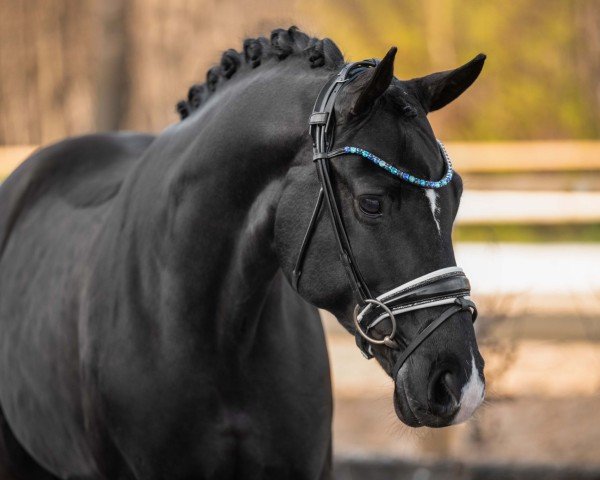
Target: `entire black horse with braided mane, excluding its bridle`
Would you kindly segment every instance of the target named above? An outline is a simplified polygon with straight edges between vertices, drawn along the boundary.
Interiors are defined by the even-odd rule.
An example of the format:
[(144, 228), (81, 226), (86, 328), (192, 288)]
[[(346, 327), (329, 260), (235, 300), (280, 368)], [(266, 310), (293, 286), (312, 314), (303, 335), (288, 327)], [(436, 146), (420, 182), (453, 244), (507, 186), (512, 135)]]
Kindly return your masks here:
[[(426, 115), (471, 85), (484, 56), (401, 81), (394, 53), (353, 70), (337, 93), (330, 143), (376, 152), (392, 172), (440, 178), (444, 155)], [(226, 51), (178, 104), (183, 121), (161, 134), (64, 140), (6, 180), (6, 478), (330, 476), (331, 385), (317, 307), (352, 333), (357, 325), (333, 210), (317, 209), (298, 293), (292, 285), (324, 181), (308, 119), (344, 64), (328, 39), (275, 30), (246, 40), (242, 53)], [(457, 174), (423, 188), (358, 155), (328, 164), (327, 201), (372, 292), (455, 265)], [(386, 342), (369, 354), (391, 374), (399, 346), (445, 308), (407, 311), (391, 339), (389, 316), (373, 324), (371, 338)], [(450, 313), (395, 375), (396, 411), (408, 425), (463, 421), (483, 398), (471, 313)]]

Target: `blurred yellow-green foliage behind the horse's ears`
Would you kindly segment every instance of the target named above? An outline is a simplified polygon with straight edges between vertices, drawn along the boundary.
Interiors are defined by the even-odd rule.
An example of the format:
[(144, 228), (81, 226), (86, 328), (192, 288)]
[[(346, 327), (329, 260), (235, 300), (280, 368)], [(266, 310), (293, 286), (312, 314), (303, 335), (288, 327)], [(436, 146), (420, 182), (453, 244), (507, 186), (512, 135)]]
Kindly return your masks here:
[(432, 123), (447, 140), (517, 140), (600, 136), (600, 105), (584, 81), (600, 79), (586, 71), (582, 5), (600, 15), (593, 0), (305, 0), (302, 8), (351, 60), (397, 45), (399, 78), (486, 53), (480, 79)]

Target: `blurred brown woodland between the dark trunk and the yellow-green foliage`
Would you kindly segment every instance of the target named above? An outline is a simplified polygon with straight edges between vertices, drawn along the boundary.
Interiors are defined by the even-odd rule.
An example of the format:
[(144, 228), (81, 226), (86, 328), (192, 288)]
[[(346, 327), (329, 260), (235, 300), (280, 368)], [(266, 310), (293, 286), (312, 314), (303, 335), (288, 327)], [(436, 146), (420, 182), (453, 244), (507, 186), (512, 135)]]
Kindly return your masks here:
[(159, 130), (177, 119), (175, 103), (228, 48), (293, 24), (289, 1), (130, 0), (127, 68), (131, 88), (121, 128)]

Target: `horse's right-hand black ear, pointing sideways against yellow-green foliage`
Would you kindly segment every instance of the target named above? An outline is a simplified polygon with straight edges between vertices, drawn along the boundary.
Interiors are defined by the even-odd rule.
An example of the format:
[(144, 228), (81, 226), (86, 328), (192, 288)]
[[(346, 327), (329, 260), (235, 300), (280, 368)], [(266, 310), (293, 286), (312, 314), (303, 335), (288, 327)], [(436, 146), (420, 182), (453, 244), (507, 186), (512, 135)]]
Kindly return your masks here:
[(485, 58), (485, 55), (480, 53), (469, 63), (455, 70), (432, 73), (407, 83), (416, 87), (425, 111), (433, 112), (448, 105), (471, 86), (481, 73)]

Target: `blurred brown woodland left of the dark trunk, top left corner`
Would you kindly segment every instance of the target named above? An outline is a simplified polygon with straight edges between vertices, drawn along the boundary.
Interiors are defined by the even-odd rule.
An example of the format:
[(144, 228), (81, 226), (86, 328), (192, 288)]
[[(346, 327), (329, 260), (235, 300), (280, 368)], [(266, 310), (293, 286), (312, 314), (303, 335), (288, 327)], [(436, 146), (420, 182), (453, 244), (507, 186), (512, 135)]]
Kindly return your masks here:
[(0, 144), (92, 129), (89, 2), (2, 0), (0, 11)]

